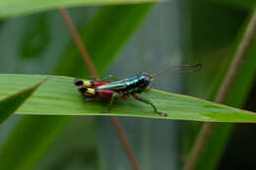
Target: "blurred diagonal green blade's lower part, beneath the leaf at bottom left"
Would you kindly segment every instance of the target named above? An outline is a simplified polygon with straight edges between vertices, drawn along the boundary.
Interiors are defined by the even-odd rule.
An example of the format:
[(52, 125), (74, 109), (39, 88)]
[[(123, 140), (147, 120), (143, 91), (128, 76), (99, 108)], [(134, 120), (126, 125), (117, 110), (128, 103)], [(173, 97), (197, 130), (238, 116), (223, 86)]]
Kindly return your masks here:
[[(41, 157), (41, 153), (54, 142), (68, 120), (68, 116), (62, 119), (59, 119), (59, 116), (27, 116), (26, 118), (22, 119), (0, 149), (1, 169), (32, 169)], [(50, 127), (54, 129), (49, 129)]]

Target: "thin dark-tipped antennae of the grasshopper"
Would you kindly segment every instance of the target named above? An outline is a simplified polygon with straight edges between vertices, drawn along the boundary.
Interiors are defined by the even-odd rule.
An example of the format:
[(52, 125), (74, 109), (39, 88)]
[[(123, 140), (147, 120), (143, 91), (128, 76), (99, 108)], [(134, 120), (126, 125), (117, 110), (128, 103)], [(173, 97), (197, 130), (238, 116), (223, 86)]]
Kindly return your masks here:
[(191, 73), (191, 72), (200, 71), (202, 69), (202, 64), (198, 63), (198, 64), (195, 64), (195, 65), (174, 65), (174, 66), (170, 66), (169, 68), (167, 68), (163, 71), (160, 71), (157, 74), (151, 75), (151, 78), (154, 78), (154, 80), (156, 80), (156, 78), (158, 77), (158, 79), (159, 79), (160, 76), (165, 76), (164, 74), (167, 71), (175, 69), (175, 68), (186, 69), (186, 70), (180, 71), (180, 72), (175, 72), (175, 73), (172, 73), (171, 75), (180, 75), (182, 73)]

